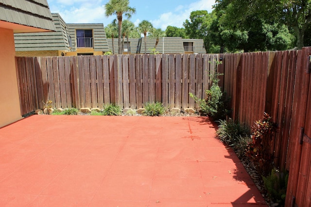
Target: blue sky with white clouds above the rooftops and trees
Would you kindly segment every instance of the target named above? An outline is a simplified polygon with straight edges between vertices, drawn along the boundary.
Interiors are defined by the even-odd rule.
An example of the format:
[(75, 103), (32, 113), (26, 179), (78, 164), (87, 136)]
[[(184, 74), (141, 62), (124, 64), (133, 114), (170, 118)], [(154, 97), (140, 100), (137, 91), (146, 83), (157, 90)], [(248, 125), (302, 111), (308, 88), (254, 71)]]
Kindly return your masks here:
[[(109, 0), (47, 0), (52, 13), (59, 13), (66, 23), (111, 23), (115, 16), (106, 17), (104, 5)], [(130, 19), (136, 26), (142, 20), (155, 28), (182, 27), (191, 11), (212, 11), (215, 0), (130, 0), (136, 14)]]

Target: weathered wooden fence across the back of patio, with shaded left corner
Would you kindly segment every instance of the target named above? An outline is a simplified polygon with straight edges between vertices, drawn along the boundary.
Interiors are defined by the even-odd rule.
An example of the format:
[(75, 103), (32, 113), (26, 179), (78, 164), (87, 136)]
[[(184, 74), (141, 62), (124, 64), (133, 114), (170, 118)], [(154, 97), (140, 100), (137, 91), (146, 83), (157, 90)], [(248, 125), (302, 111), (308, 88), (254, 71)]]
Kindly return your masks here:
[(194, 108), (205, 98), (217, 54), (16, 57), (22, 114), (43, 108), (138, 109), (146, 102)]

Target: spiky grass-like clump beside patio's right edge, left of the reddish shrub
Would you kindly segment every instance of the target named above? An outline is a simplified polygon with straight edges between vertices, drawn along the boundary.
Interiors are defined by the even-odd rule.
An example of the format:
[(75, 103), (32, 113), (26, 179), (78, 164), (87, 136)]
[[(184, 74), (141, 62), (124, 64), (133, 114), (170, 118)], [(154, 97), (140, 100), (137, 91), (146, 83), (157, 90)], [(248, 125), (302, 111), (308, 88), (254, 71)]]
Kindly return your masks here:
[(241, 137), (247, 137), (248, 128), (232, 119), (219, 120), (216, 137), (228, 145), (238, 142)]

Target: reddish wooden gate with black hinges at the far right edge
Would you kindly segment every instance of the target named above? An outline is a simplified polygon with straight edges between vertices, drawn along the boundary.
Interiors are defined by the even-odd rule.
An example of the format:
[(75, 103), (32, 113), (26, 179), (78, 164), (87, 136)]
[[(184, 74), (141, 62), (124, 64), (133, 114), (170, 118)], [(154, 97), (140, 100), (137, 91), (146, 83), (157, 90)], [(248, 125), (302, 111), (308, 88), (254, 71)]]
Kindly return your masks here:
[[(300, 69), (295, 74), (292, 125), (290, 132), (290, 175), (286, 205), (311, 206), (311, 79), (310, 48), (303, 48)], [(298, 64), (298, 63), (297, 63)]]

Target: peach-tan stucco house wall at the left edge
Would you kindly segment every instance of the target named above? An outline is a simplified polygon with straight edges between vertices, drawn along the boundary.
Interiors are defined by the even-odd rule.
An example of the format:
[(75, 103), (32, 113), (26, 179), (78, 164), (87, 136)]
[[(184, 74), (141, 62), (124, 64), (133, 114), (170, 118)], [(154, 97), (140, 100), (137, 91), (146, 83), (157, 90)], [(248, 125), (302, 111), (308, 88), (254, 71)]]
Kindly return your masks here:
[(21, 119), (13, 30), (0, 28), (0, 127)]

